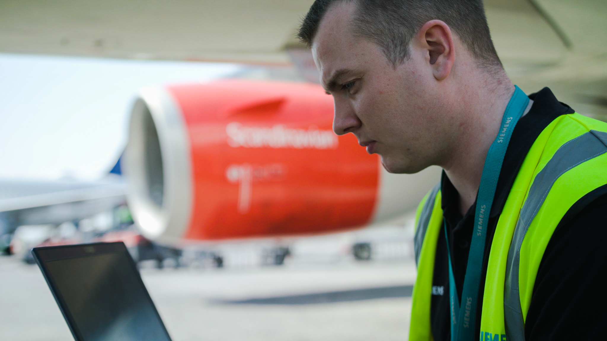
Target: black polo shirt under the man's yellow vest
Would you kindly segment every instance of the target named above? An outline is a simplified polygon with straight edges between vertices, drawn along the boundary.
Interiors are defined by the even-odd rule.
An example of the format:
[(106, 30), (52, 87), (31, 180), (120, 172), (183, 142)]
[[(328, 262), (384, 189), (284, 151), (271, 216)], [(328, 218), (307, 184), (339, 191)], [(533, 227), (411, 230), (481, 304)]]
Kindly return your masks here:
[[(534, 104), (514, 131), (504, 157), (487, 226), (481, 273), (476, 334), (480, 333), (484, 281), (495, 226), (518, 170), (541, 131), (555, 118), (573, 113), (547, 87), (529, 95)], [(605, 170), (607, 172), (607, 169)], [(447, 223), (453, 275), (461, 297), (476, 202), (464, 217), (459, 195), (447, 175), (441, 179), (443, 215)], [(607, 186), (586, 195), (560, 221), (538, 269), (525, 323), (525, 338), (535, 340), (597, 340), (607, 338)], [(432, 280), (431, 321), (435, 341), (450, 340), (449, 258), (446, 238), (439, 233)], [(441, 288), (442, 287), (442, 288)]]

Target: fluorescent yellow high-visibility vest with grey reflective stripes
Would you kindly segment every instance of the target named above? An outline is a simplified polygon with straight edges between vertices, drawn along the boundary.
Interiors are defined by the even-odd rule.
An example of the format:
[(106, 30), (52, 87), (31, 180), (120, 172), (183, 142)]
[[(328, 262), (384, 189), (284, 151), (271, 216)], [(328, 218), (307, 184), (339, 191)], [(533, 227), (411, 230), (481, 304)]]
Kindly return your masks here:
[[(576, 201), (594, 193), (598, 197), (600, 191), (594, 190), (605, 184), (607, 123), (578, 113), (558, 116), (527, 152), (498, 218), (484, 283), (480, 340), (525, 339), (535, 277), (552, 233)], [(410, 341), (433, 340), (430, 301), (441, 231), (443, 210), (437, 185), (422, 199), (416, 214), (418, 276)]]

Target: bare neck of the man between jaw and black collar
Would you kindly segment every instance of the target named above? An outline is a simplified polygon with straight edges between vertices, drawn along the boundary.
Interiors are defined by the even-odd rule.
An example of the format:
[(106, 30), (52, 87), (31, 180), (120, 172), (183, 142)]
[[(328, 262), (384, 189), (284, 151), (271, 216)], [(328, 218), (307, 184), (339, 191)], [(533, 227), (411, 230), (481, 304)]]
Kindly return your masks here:
[(507, 77), (498, 84), (480, 86), (475, 92), (463, 95), (465, 109), (460, 116), (461, 134), (449, 159), (441, 165), (459, 193), (462, 215), (476, 200), (487, 152), (497, 137), (504, 111), (514, 93), (514, 85)]

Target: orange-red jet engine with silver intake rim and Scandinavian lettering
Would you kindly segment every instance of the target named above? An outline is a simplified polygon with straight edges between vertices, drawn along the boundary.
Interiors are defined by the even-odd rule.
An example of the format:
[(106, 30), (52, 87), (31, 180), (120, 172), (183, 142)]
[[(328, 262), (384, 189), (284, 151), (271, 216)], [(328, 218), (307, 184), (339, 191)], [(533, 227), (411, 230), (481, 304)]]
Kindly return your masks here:
[(135, 221), (166, 242), (339, 231), (412, 209), (438, 181), (382, 171), (332, 118), (315, 84), (142, 90), (125, 160)]

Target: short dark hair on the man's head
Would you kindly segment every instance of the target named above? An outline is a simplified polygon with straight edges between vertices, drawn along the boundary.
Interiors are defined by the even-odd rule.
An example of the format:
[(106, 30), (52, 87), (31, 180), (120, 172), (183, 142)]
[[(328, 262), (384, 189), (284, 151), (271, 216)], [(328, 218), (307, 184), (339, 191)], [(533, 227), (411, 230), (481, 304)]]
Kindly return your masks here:
[(482, 0), (316, 0), (297, 36), (308, 46), (327, 10), (337, 1), (355, 2), (354, 36), (375, 42), (393, 66), (409, 58), (409, 43), (426, 22), (446, 22), (479, 66), (502, 69), (495, 52)]

